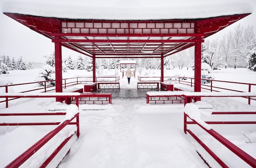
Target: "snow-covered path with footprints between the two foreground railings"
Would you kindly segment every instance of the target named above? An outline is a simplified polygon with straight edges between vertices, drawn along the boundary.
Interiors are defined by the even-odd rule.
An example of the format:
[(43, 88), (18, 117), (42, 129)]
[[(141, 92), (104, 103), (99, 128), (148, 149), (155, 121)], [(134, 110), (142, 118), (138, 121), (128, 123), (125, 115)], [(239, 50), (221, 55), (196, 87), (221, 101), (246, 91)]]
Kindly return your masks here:
[(144, 101), (81, 112), (81, 136), (59, 168), (207, 167), (183, 132), (183, 108)]

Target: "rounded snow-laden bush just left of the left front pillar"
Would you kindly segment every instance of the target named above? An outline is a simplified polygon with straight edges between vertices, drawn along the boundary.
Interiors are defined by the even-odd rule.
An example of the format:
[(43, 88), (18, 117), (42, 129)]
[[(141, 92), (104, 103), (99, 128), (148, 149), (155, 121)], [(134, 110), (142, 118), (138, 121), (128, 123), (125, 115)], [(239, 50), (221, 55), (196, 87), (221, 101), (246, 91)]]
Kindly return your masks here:
[[(45, 86), (45, 82), (41, 82), (41, 81), (55, 80), (54, 73), (55, 73), (54, 67), (45, 65), (39, 71), (38, 77), (36, 77), (35, 81), (40, 82), (38, 83), (38, 85)], [(46, 86), (55, 86), (55, 81), (46, 82)]]

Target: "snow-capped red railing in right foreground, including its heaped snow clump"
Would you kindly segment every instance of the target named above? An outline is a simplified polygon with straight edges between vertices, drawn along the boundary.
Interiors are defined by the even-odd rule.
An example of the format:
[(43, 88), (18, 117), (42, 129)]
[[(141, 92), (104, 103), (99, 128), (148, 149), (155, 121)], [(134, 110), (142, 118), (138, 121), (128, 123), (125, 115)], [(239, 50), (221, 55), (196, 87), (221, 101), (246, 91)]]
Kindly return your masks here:
[[(231, 152), (236, 154), (240, 159), (245, 161), (247, 164), (249, 164), (252, 167), (256, 167), (256, 159), (254, 159), (252, 156), (247, 154), (245, 151), (238, 148), (238, 146), (234, 145), (231, 141), (217, 133), (215, 130), (213, 130), (210, 126), (210, 124), (256, 124), (256, 121), (211, 121), (211, 122), (204, 122), (201, 119), (201, 115), (256, 115), (256, 111), (243, 111), (243, 112), (209, 112), (209, 111), (202, 111), (199, 109), (195, 104), (191, 103), (192, 98), (194, 97), (255, 97), (256, 93), (184, 93), (184, 133), (189, 133), (198, 143), (215, 159), (218, 164), (222, 167), (228, 168), (227, 164), (225, 164), (213, 151), (203, 143), (200, 138), (198, 138), (195, 133), (193, 133), (191, 130), (187, 129), (187, 124), (196, 124), (200, 126), (204, 131), (209, 133), (212, 137), (214, 137), (216, 140), (218, 140), (221, 144), (223, 144), (225, 147), (227, 147)], [(190, 121), (187, 121), (187, 119), (190, 119)]]

